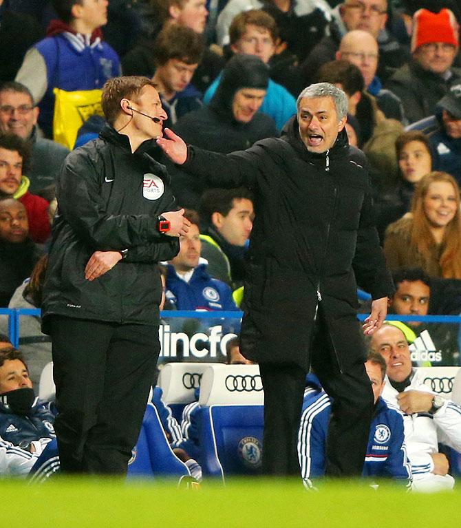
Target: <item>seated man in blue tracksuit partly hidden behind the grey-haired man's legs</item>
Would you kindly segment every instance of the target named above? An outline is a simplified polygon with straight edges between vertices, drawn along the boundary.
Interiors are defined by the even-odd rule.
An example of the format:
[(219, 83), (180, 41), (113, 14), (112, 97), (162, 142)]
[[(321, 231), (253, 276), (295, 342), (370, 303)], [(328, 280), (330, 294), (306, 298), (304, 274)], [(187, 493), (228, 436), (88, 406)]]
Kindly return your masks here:
[[(369, 352), (365, 369), (373, 388), (374, 416), (369, 430), (363, 476), (395, 478), (410, 486), (411, 467), (407, 459), (402, 413), (387, 405), (380, 397), (385, 384), (386, 363), (376, 352)], [(311, 486), (310, 479), (325, 473), (325, 445), (330, 414), (330, 397), (321, 388), (317, 377), (309, 374), (298, 436), (301, 476), (308, 487)]]

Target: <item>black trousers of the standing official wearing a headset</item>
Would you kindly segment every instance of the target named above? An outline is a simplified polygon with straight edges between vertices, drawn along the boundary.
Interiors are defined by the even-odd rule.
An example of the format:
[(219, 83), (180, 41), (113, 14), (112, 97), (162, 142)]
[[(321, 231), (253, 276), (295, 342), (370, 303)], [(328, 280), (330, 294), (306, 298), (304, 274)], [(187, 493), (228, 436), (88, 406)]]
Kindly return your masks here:
[(127, 472), (160, 352), (158, 326), (50, 320), (61, 470)]

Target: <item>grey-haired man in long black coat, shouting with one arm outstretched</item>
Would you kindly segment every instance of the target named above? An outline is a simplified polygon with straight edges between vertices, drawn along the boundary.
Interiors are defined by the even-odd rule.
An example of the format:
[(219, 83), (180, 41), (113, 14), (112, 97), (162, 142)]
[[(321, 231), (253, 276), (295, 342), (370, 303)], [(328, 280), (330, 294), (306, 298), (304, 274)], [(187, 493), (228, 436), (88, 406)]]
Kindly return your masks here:
[(346, 115), (344, 92), (319, 83), (301, 92), (297, 117), (280, 139), (246, 151), (225, 156), (186, 146), (168, 129), (157, 140), (183, 169), (255, 194), (240, 337), (264, 386), (266, 474), (300, 474), (297, 428), (310, 366), (334, 399), (326, 474), (358, 476), (363, 468), (373, 394), (356, 286), (374, 299), (365, 334), (383, 323), (394, 288), (374, 226), (367, 162), (347, 144)]

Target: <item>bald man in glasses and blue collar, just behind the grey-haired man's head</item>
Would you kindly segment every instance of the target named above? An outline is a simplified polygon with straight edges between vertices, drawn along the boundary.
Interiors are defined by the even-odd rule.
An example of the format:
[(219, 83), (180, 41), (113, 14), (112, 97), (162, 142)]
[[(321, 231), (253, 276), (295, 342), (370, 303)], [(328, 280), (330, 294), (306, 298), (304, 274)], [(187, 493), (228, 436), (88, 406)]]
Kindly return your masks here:
[(341, 39), (336, 59), (345, 59), (361, 71), (365, 90), (376, 97), (378, 107), (387, 118), (406, 123), (405, 112), (400, 99), (388, 89), (383, 89), (376, 76), (379, 61), (379, 47), (376, 38), (365, 30), (352, 30)]

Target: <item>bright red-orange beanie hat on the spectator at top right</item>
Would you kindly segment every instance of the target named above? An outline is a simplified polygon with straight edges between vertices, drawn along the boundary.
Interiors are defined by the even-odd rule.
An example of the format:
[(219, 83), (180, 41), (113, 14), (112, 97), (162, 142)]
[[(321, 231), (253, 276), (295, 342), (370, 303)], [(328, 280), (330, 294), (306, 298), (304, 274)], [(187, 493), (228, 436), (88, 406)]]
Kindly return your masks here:
[(420, 9), (413, 16), (411, 52), (423, 44), (432, 42), (443, 42), (458, 47), (458, 30), (458, 22), (451, 10), (442, 9), (439, 13), (433, 13)]

